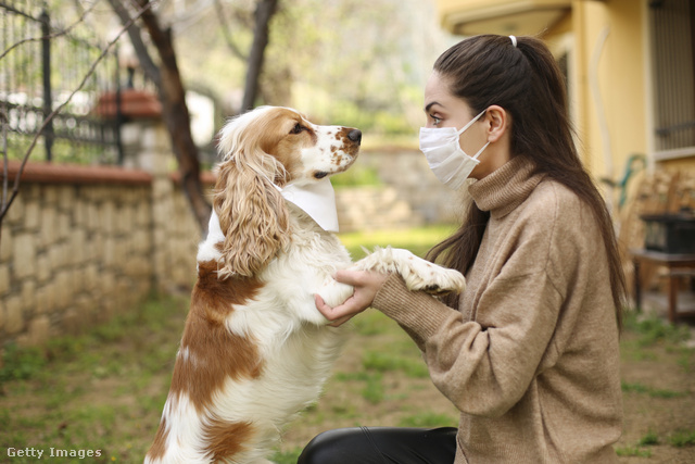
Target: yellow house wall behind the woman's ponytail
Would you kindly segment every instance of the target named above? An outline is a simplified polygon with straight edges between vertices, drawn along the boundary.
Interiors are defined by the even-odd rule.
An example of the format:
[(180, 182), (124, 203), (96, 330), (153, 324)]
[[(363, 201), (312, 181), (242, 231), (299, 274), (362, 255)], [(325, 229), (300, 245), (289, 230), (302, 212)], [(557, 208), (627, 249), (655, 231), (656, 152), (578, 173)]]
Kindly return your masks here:
[[(497, 0), (486, 8), (506, 3)], [(478, 4), (477, 0), (438, 0), (442, 14)], [(628, 159), (636, 153), (655, 164), (649, 147), (646, 14), (646, 0), (571, 0), (569, 13), (543, 35), (556, 55), (570, 51), (572, 121), (584, 163), (597, 178), (622, 178)], [(593, 63), (596, 53), (598, 61)], [(695, 156), (659, 162), (661, 166), (695, 171)]]

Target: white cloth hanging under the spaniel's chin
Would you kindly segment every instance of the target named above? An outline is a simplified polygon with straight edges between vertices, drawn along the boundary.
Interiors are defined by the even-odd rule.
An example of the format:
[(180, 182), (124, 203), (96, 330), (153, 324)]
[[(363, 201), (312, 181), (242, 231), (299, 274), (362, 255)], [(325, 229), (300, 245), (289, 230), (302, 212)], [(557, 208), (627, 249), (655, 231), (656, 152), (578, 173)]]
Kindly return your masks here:
[(317, 183), (296, 186), (290, 184), (280, 188), (275, 186), (287, 201), (308, 214), (326, 231), (338, 231), (338, 211), (336, 192), (330, 178), (324, 177)]

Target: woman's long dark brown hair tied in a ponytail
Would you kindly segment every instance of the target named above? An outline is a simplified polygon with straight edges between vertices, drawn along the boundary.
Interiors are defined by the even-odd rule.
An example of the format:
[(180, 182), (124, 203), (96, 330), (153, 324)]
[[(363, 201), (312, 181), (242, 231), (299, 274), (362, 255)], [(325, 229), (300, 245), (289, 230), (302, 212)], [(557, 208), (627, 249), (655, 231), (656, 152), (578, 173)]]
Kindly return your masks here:
[[(621, 327), (627, 290), (612, 221), (579, 158), (572, 139), (565, 78), (551, 51), (534, 37), (517, 37), (515, 47), (506, 36), (476, 36), (442, 53), (434, 71), (446, 78), (452, 95), (465, 100), (473, 114), (492, 104), (511, 114), (511, 155), (528, 156), (536, 172), (565, 185), (591, 208), (606, 246), (610, 288), (618, 327)], [(432, 248), (428, 259), (440, 259), (447, 267), (468, 272), (489, 218), (488, 212), (471, 202), (460, 228)], [(446, 303), (457, 308), (458, 296), (450, 296)]]

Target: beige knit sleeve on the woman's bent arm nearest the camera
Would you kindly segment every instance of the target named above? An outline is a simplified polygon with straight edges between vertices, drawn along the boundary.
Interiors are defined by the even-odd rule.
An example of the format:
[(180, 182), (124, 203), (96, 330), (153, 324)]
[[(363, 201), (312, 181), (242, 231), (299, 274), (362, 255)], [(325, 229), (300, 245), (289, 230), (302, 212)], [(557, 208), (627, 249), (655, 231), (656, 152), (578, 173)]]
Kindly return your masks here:
[(547, 349), (561, 297), (543, 272), (498, 279), (479, 310), (495, 308), (495, 327), (463, 315), (390, 277), (372, 305), (395, 319), (424, 351), (430, 377), (462, 412), (500, 416), (528, 389)]

